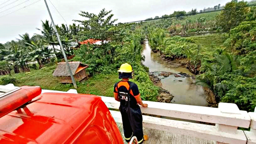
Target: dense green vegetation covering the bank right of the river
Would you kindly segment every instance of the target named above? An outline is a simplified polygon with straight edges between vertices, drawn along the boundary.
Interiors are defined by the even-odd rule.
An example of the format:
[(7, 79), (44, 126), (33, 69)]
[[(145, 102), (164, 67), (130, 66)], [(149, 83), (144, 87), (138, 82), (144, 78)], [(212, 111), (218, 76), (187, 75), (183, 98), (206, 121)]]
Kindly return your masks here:
[[(232, 0), (224, 8), (246, 4), (244, 1)], [(226, 33), (208, 36), (170, 37), (171, 26), (154, 28), (153, 23), (148, 23), (145, 29), (153, 50), (160, 51), (168, 59), (188, 59), (187, 68), (195, 74), (200, 73), (196, 83), (209, 88), (217, 102), (233, 102), (240, 109), (254, 111), (255, 16), (255, 7), (222, 11), (213, 21), (217, 28)]]

